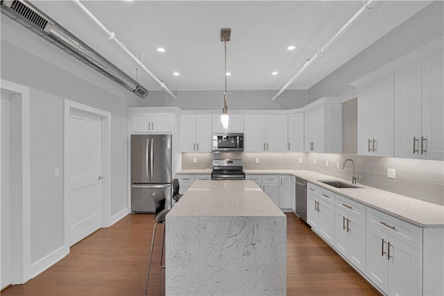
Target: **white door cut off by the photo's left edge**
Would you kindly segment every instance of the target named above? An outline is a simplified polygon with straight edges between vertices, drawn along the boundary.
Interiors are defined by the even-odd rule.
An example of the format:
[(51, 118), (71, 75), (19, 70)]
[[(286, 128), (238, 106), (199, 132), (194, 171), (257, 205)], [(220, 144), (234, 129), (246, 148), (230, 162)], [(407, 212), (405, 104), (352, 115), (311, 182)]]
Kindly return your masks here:
[(12, 164), (11, 164), (11, 100), (10, 95), (1, 92), (0, 128), (1, 128), (1, 286), (11, 284), (12, 274)]

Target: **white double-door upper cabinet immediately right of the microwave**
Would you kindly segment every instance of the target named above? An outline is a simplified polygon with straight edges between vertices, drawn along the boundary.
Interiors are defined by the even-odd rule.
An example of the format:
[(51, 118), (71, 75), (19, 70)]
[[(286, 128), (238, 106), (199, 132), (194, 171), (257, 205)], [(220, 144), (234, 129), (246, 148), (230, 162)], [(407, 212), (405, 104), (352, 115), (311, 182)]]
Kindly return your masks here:
[(287, 151), (287, 115), (246, 114), (244, 150), (246, 152)]

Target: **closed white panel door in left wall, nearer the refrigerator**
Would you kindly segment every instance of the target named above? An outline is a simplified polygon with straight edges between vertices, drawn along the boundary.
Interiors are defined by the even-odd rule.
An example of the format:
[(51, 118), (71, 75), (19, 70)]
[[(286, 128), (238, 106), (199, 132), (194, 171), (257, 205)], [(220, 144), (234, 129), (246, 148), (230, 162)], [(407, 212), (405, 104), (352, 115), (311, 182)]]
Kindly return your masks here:
[(101, 117), (72, 111), (67, 132), (67, 244), (74, 245), (101, 227)]

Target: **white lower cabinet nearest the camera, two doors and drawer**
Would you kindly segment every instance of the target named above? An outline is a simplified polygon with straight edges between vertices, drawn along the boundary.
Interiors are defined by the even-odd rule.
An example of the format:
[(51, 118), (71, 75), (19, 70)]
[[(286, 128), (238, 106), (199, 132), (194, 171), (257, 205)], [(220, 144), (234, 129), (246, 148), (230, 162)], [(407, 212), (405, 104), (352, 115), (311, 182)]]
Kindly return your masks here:
[(422, 295), (422, 229), (367, 208), (366, 276), (388, 295)]

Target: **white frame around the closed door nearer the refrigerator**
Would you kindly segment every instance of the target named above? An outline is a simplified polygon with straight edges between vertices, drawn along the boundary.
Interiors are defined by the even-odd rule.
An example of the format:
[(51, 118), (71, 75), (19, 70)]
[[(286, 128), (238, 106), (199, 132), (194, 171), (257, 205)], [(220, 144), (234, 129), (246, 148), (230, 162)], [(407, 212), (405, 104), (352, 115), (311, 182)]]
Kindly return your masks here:
[(84, 114), (92, 114), (99, 116), (102, 119), (102, 196), (101, 196), (101, 227), (110, 227), (111, 225), (111, 113), (106, 112), (88, 105), (83, 105), (74, 101), (65, 99), (65, 119), (64, 119), (64, 139), (63, 139), (63, 175), (64, 175), (64, 245), (67, 246), (67, 197), (68, 178), (67, 178), (67, 148), (68, 139), (70, 136), (69, 130), (69, 116), (71, 111), (76, 111)]

